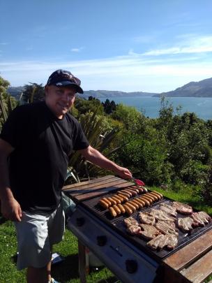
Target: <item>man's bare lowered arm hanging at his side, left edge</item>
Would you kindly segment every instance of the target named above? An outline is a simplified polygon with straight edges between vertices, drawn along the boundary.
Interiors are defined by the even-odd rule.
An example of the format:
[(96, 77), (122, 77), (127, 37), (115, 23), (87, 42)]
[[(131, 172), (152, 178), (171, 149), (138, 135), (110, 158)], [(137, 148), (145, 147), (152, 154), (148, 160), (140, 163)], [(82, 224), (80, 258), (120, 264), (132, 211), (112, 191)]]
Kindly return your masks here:
[(12, 221), (21, 221), (22, 210), (20, 204), (15, 200), (10, 189), (8, 157), (14, 148), (5, 140), (0, 138), (0, 200), (1, 213), (3, 217)]

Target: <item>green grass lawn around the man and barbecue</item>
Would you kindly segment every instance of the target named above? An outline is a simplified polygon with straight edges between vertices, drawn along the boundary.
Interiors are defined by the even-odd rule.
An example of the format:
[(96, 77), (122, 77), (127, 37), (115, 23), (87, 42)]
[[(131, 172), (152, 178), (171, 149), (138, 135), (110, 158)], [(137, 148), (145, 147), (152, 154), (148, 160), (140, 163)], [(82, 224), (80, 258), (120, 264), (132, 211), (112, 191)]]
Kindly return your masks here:
[[(198, 196), (194, 196), (192, 191), (164, 191), (153, 187), (160, 191), (164, 196), (172, 198), (192, 205), (197, 210), (204, 210), (212, 215), (212, 208), (204, 205)], [(15, 228), (13, 223), (5, 221), (0, 215), (0, 283), (24, 283), (25, 270), (16, 270), (16, 252), (17, 242), (15, 236)], [(61, 283), (79, 282), (78, 275), (78, 255), (77, 255), (77, 238), (66, 229), (64, 239), (61, 243), (54, 246), (53, 252), (58, 252), (64, 257), (64, 261), (52, 266), (52, 277)], [(87, 282), (90, 283), (114, 283), (118, 282), (116, 277), (107, 269), (102, 268), (98, 272), (91, 272), (87, 275)], [(107, 281), (106, 281), (107, 280)]]

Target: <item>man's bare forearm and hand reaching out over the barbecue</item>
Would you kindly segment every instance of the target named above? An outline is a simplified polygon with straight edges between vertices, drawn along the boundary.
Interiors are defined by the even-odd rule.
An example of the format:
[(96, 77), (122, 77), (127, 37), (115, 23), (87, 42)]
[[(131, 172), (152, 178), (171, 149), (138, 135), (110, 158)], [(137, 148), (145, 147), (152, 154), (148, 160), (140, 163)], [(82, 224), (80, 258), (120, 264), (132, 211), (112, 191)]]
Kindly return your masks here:
[(132, 174), (127, 168), (123, 168), (113, 161), (104, 157), (98, 150), (95, 150), (91, 145), (84, 150), (79, 150), (79, 152), (83, 155), (83, 157), (90, 161), (91, 163), (108, 170), (114, 171), (117, 175), (122, 177), (123, 179), (130, 179)]

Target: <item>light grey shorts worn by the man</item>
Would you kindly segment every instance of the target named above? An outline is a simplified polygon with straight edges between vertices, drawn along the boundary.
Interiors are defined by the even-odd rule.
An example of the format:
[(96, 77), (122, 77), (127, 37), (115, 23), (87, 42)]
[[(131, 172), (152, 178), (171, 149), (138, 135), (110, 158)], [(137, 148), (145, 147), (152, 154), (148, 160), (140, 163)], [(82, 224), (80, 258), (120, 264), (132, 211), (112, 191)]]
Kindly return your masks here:
[(51, 260), (52, 245), (63, 240), (65, 216), (61, 205), (51, 215), (22, 212), (17, 232), (17, 269), (43, 268)]

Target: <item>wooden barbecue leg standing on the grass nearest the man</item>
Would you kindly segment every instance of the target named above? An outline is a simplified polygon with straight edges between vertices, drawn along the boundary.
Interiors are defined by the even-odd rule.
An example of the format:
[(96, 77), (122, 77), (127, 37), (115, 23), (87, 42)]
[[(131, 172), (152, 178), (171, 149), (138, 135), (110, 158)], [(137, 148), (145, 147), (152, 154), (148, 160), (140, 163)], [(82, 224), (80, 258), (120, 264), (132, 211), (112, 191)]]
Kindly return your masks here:
[(79, 256), (79, 280), (81, 283), (86, 283), (86, 274), (88, 268), (86, 264), (86, 247), (78, 240), (78, 256)]

